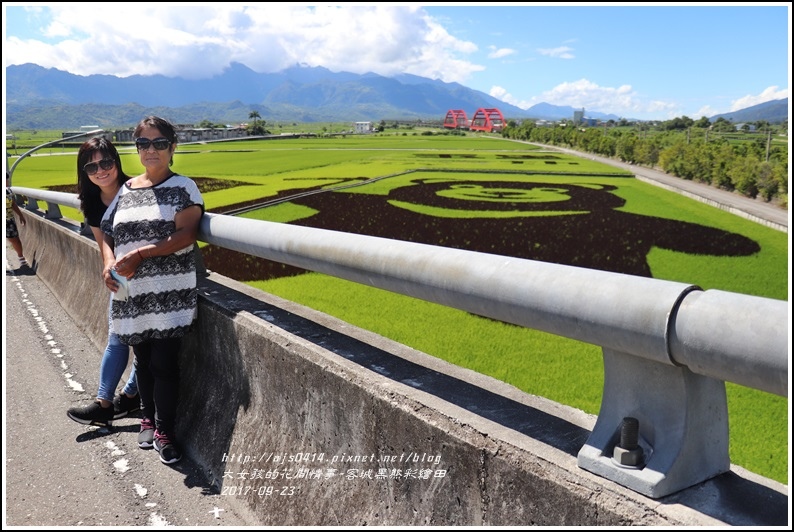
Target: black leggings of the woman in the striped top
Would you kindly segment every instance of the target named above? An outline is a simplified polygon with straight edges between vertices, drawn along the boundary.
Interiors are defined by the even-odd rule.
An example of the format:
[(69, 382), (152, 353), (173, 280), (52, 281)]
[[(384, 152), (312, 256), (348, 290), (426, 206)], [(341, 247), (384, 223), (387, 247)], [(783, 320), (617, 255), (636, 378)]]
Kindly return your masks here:
[(173, 435), (179, 401), (181, 338), (149, 340), (132, 346), (143, 416), (154, 420), (159, 432)]

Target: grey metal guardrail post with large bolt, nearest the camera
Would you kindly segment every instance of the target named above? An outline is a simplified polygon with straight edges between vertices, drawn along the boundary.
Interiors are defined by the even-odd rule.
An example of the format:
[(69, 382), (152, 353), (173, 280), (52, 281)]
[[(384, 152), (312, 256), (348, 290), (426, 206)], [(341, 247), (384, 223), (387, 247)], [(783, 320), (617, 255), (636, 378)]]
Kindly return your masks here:
[[(654, 499), (730, 469), (724, 381), (611, 349), (603, 353), (601, 411), (579, 451), (579, 467)], [(621, 447), (625, 418), (638, 422), (636, 449)]]

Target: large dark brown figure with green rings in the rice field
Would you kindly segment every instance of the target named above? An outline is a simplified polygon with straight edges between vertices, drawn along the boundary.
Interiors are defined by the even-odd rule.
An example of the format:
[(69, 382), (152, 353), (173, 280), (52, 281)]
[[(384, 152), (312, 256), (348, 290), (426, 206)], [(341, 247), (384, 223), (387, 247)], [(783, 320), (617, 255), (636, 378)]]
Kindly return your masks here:
[[(651, 277), (646, 257), (653, 246), (715, 256), (747, 256), (760, 250), (753, 240), (713, 227), (618, 211), (624, 200), (611, 193), (615, 188), (415, 180), (388, 196), (329, 191), (295, 198), (292, 203), (317, 213), (292, 223), (644, 277)], [(533, 199), (549, 196), (557, 201)], [(445, 216), (421, 214), (395, 202), (444, 209)], [(463, 217), (471, 211), (482, 215)], [(488, 214), (493, 211), (527, 216), (496, 218)], [(576, 214), (541, 216), (560, 211)], [(216, 246), (205, 247), (203, 257), (208, 269), (239, 281), (304, 272)]]

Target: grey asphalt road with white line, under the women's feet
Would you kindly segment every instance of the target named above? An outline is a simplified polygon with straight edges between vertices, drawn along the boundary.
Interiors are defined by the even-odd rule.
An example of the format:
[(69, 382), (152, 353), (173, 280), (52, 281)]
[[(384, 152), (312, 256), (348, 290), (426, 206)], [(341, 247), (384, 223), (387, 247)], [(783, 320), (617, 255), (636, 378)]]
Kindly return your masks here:
[(11, 269), (7, 241), (6, 257), (3, 529), (255, 525), (187, 456), (172, 467), (139, 449), (139, 418), (108, 430), (66, 416), (96, 394), (101, 353), (32, 270)]

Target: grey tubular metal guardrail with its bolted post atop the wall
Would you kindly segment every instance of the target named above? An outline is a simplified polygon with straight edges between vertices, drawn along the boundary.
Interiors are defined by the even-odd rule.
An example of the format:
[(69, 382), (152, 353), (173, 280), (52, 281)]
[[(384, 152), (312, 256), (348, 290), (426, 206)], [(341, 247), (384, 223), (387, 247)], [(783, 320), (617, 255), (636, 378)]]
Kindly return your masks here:
[[(79, 207), (73, 194), (12, 187)], [(788, 303), (697, 286), (207, 213), (199, 240), (602, 347), (583, 469), (649, 497), (730, 469), (725, 381), (788, 397)]]

